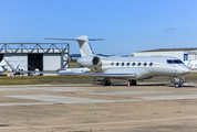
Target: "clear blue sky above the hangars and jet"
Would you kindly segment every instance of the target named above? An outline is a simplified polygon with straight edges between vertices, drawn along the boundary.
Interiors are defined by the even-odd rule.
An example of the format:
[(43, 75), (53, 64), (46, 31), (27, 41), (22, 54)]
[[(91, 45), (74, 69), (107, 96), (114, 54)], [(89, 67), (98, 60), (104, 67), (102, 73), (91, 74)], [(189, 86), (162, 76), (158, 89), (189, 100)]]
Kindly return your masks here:
[(96, 54), (197, 47), (197, 0), (0, 0), (0, 43), (80, 35), (104, 38), (91, 42)]

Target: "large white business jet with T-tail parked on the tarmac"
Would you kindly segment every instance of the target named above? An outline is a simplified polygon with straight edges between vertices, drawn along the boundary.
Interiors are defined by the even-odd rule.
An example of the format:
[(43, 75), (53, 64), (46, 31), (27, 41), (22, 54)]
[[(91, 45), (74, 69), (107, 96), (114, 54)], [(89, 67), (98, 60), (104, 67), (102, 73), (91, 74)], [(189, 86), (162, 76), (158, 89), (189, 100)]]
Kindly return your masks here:
[[(169, 76), (170, 81), (179, 87), (183, 81), (179, 79), (180, 75), (188, 74), (190, 69), (176, 57), (102, 57), (94, 54), (86, 35), (75, 38), (44, 38), (59, 41), (76, 41), (80, 45), (82, 57), (77, 63), (84, 67), (94, 69), (96, 73), (61, 73), (65, 75), (87, 75), (94, 77), (105, 77), (103, 86), (111, 85), (111, 78), (127, 79), (129, 85), (136, 85), (137, 80), (149, 79), (154, 76)], [(48, 72), (43, 72), (48, 73)], [(51, 73), (50, 73), (51, 74)], [(54, 72), (53, 74), (59, 74)]]

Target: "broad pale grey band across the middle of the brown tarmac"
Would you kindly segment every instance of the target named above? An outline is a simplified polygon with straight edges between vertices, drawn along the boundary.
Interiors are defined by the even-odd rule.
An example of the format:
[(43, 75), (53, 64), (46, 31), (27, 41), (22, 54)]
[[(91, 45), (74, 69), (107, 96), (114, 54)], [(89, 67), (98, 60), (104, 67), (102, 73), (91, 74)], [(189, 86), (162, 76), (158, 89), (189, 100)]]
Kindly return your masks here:
[[(58, 105), (58, 103), (66, 105), (66, 103), (101, 103), (101, 102), (182, 100), (182, 99), (196, 99), (197, 95), (136, 97), (136, 98), (126, 98), (127, 100), (98, 100), (98, 99), (61, 97), (61, 96), (49, 96), (49, 95), (21, 95), (21, 96), (7, 96), (7, 97), (51, 102), (51, 103), (43, 102), (43, 105)], [(30, 105), (40, 105), (40, 103), (11, 103), (11, 105), (10, 103), (0, 103), (0, 106), (21, 106), (21, 105), (30, 106)]]

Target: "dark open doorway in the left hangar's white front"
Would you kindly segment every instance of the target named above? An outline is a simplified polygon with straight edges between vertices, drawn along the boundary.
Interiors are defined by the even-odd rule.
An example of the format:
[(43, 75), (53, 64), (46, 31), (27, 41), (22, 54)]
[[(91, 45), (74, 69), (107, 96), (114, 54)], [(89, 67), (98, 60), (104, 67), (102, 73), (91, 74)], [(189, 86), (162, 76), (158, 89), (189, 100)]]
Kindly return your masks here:
[(28, 54), (28, 70), (43, 70), (43, 54)]

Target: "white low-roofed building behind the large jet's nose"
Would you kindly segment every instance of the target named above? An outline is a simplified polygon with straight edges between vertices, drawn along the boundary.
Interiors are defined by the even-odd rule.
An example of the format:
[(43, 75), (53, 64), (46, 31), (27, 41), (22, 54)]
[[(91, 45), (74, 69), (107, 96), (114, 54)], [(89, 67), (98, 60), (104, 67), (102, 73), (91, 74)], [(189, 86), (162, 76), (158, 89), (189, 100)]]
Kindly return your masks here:
[(174, 56), (182, 61), (196, 61), (197, 47), (191, 48), (159, 48), (132, 53), (132, 56)]

